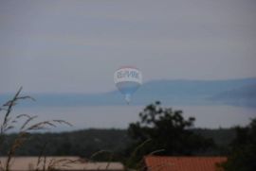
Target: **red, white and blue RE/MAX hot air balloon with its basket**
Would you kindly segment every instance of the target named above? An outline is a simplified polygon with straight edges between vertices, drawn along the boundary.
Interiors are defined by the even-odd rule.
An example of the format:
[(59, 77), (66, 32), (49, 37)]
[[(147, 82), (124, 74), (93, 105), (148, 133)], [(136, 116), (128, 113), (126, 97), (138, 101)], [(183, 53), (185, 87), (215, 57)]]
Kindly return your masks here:
[(141, 72), (130, 66), (119, 68), (114, 74), (114, 82), (121, 94), (124, 94), (125, 101), (129, 104), (131, 96), (142, 84)]

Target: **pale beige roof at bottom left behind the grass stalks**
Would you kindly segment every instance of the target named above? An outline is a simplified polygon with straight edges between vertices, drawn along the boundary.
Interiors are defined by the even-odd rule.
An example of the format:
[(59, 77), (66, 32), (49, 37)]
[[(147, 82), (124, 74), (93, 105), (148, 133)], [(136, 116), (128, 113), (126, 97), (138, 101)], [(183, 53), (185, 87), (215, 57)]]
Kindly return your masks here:
[[(1, 166), (4, 168), (7, 159), (0, 158)], [(9, 170), (123, 171), (124, 166), (120, 162), (87, 162), (79, 157), (13, 157), (9, 162)]]

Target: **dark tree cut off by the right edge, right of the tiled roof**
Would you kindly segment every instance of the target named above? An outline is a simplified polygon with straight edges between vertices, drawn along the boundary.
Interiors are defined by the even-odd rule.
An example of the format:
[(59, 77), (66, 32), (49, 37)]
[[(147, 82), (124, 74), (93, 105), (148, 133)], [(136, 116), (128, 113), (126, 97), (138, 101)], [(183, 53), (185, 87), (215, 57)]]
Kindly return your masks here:
[(228, 162), (223, 166), (227, 171), (256, 170), (256, 118), (247, 127), (236, 128), (236, 138), (231, 143)]

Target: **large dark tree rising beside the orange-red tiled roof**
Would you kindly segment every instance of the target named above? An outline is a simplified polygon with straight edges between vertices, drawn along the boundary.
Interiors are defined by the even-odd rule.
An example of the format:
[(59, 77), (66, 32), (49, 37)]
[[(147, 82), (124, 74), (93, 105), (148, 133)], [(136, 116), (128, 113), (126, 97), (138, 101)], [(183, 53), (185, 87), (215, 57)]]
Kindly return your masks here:
[(139, 117), (140, 121), (130, 124), (128, 128), (129, 135), (135, 140), (130, 149), (142, 144), (139, 149), (136, 148), (137, 159), (154, 151), (157, 155), (202, 154), (213, 145), (212, 139), (192, 131), (195, 118), (185, 119), (182, 111), (162, 108), (159, 101), (147, 106)]

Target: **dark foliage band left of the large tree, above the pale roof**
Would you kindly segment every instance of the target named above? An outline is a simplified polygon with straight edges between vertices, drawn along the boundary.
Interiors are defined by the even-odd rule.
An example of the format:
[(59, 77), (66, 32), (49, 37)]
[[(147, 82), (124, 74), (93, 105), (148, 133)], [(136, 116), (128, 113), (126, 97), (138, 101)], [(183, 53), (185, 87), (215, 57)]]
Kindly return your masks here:
[[(7, 155), (9, 145), (17, 137), (16, 133), (6, 135), (0, 155)], [(94, 156), (95, 160), (104, 161), (114, 155), (117, 159), (119, 152), (131, 142), (127, 130), (121, 129), (86, 129), (61, 133), (32, 133), (27, 143), (17, 149), (19, 156), (38, 156), (44, 148), (46, 156), (81, 156), (90, 158), (101, 151), (101, 155)], [(103, 152), (104, 151), (104, 152)], [(113, 159), (114, 160), (114, 159)], [(106, 161), (106, 160), (105, 160)]]

